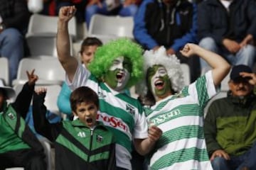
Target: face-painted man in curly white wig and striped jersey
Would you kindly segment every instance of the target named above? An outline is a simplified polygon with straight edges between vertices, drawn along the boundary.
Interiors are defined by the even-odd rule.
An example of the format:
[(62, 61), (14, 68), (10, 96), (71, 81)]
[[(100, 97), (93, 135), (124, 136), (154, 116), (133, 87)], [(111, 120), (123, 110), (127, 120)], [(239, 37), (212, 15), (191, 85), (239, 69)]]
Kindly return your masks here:
[(216, 86), (228, 74), (223, 57), (188, 43), (182, 55), (198, 55), (212, 67), (189, 86), (183, 86), (181, 64), (164, 47), (144, 52), (144, 109), (150, 125), (162, 130), (156, 147), (148, 155), (149, 169), (210, 170), (212, 166), (203, 136), (203, 108), (216, 94)]

